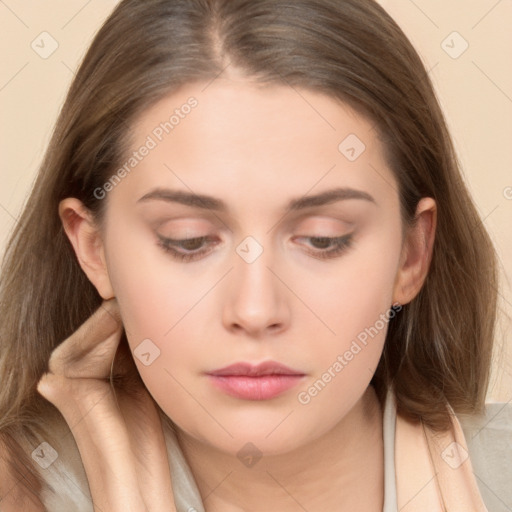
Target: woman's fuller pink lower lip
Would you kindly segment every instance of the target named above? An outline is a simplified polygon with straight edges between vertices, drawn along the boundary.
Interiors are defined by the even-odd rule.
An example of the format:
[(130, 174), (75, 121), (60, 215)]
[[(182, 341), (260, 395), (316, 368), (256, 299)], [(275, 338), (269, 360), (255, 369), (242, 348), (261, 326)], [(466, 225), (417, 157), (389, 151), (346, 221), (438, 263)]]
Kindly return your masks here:
[(228, 395), (244, 400), (269, 400), (296, 386), (303, 375), (208, 375)]

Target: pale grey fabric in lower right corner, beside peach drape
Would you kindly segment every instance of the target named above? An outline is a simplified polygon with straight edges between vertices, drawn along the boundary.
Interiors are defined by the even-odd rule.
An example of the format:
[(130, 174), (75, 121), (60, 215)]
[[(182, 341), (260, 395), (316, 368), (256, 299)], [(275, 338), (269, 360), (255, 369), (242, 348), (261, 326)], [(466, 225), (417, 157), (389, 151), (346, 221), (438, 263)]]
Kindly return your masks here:
[(458, 416), (482, 498), (489, 510), (512, 509), (512, 402), (488, 402), (481, 416)]

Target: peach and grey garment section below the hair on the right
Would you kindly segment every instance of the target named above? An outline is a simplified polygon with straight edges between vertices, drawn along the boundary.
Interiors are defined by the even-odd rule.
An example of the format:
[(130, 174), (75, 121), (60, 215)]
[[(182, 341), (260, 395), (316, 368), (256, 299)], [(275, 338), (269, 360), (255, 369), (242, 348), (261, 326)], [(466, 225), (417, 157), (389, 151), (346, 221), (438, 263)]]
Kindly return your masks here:
[(398, 510), (512, 512), (512, 403), (488, 403), (482, 416), (450, 414), (451, 429), (438, 434), (397, 416)]

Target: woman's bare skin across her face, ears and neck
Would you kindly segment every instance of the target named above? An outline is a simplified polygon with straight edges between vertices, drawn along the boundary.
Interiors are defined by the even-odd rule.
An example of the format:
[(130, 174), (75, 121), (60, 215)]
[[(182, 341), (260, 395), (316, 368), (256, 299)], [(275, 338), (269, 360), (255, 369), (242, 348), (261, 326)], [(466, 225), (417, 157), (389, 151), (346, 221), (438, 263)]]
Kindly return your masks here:
[[(188, 84), (134, 123), (136, 150), (190, 96), (172, 132), (105, 199), (105, 229), (75, 198), (59, 209), (80, 264), (104, 299), (119, 303), (130, 348), (150, 339), (160, 356), (137, 369), (178, 439), (208, 512), (377, 511), (383, 506), (382, 411), (369, 386), (387, 323), (307, 404), (308, 388), (392, 303), (419, 292), (431, 258), (436, 205), (423, 198), (402, 237), (398, 185), (370, 120), (328, 96), (244, 79)], [(366, 146), (349, 161), (338, 146)], [(225, 212), (138, 200), (155, 187), (207, 194)], [(370, 194), (285, 212), (292, 198), (337, 187)], [(158, 245), (211, 236), (179, 261)], [(352, 234), (335, 257), (308, 237)], [(248, 263), (236, 249), (263, 248)], [(243, 246), (242, 246), (243, 247)], [(252, 249), (251, 249), (252, 250)], [(305, 374), (271, 400), (231, 397), (204, 372), (239, 361), (279, 361)], [(252, 443), (252, 467), (239, 450)], [(362, 477), (363, 476), (363, 477)], [(303, 508), (301, 508), (303, 507)]]

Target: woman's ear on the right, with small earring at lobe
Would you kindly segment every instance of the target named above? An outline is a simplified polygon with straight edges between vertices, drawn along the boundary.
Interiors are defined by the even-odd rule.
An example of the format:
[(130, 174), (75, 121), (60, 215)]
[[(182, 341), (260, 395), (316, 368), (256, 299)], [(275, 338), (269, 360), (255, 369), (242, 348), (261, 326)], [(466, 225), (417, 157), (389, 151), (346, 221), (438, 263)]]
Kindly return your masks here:
[(419, 293), (428, 274), (437, 223), (436, 202), (422, 198), (416, 208), (415, 223), (406, 233), (395, 278), (393, 302), (407, 304)]

